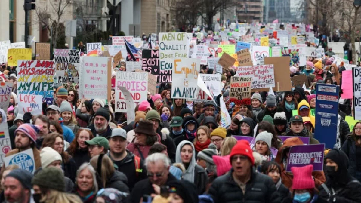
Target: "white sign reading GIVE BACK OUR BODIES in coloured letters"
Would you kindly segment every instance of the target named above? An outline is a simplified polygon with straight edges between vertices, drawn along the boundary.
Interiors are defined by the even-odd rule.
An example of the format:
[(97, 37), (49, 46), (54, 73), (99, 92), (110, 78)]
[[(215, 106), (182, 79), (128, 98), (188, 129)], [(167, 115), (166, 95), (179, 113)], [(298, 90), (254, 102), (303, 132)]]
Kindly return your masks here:
[[(148, 73), (147, 72), (117, 72), (115, 90), (115, 112), (127, 112), (125, 96), (119, 87), (125, 87), (133, 99), (134, 106), (147, 100)], [(133, 109), (134, 111), (134, 109)]]

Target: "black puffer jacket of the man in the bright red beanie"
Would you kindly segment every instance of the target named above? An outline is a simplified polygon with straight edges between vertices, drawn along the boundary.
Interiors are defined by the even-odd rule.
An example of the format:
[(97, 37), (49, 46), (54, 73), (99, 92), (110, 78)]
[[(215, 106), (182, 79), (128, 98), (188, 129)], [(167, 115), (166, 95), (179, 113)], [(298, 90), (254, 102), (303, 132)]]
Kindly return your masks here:
[(209, 189), (214, 203), (273, 203), (278, 202), (278, 194), (272, 179), (265, 174), (257, 173), (252, 168), (251, 180), (247, 182), (245, 194), (234, 181), (233, 169), (229, 173), (216, 178)]

